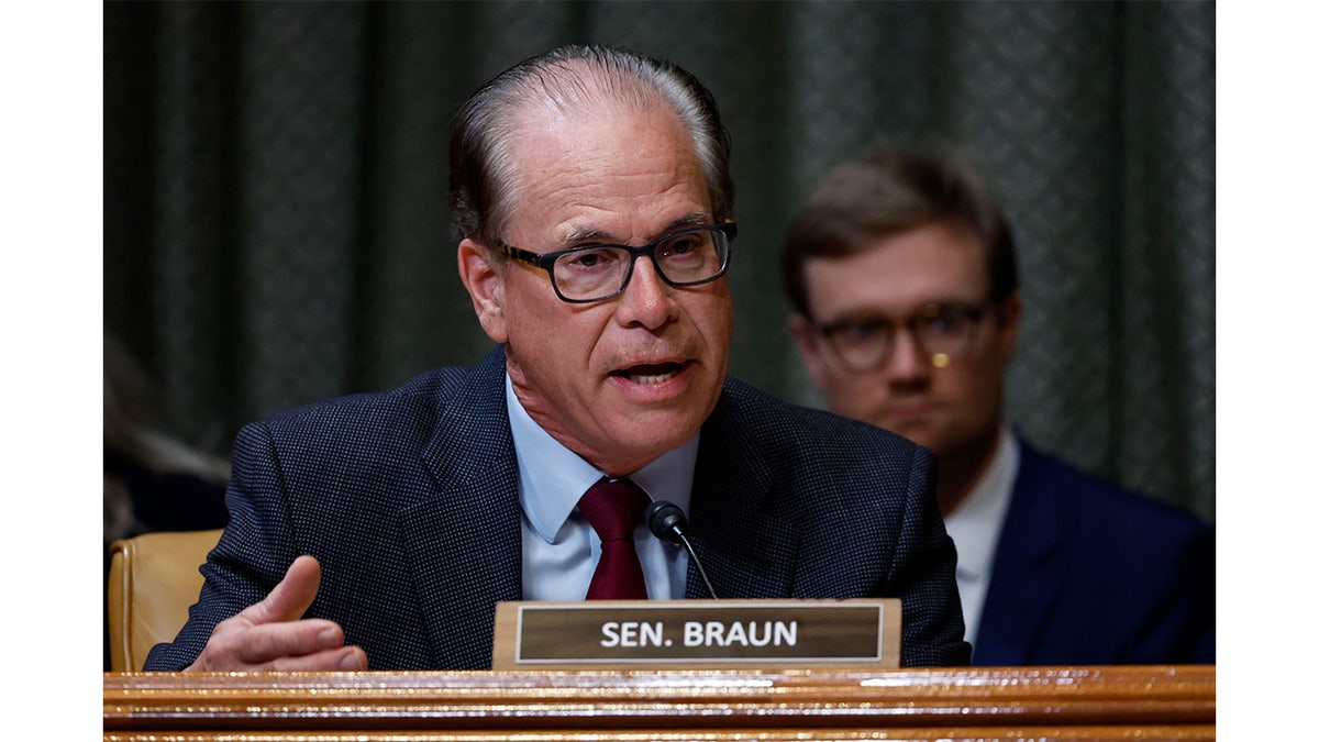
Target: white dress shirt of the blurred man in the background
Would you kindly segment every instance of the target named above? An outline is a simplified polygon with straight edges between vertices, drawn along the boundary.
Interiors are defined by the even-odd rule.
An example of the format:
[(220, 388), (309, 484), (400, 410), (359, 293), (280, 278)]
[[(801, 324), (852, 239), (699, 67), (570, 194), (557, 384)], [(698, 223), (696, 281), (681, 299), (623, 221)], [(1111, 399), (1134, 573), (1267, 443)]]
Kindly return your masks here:
[(1021, 448), (1006, 428), (998, 433), (989, 469), (976, 482), (967, 499), (943, 519), (948, 536), (958, 545), (958, 591), (962, 593), (962, 617), (967, 622), (967, 642), (975, 652), (980, 614), (989, 588), (993, 555), (998, 548), (998, 533), (1008, 516), (1012, 486), (1017, 481)]

